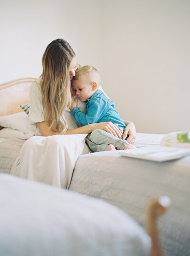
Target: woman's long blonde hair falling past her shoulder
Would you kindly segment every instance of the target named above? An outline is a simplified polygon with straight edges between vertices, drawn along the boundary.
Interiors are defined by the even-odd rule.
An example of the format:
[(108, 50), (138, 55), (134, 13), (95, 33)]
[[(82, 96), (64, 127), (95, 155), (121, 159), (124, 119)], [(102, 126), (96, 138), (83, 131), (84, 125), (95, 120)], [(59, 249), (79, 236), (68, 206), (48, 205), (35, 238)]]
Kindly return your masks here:
[(71, 104), (69, 65), (75, 52), (64, 39), (52, 41), (46, 48), (42, 65), (41, 93), (44, 119), (49, 129), (67, 129), (63, 110)]

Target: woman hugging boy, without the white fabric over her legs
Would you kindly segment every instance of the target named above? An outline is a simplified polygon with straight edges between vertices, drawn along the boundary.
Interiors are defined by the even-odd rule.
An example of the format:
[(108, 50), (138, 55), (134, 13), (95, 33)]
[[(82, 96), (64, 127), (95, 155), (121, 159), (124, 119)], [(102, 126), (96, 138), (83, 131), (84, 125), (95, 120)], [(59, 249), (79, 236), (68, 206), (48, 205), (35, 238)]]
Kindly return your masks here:
[[(30, 122), (37, 123), (42, 136), (89, 134), (94, 129), (104, 129), (115, 137), (121, 137), (120, 130), (111, 122), (67, 129), (63, 110), (71, 104), (70, 80), (75, 76), (78, 65), (75, 52), (66, 40), (56, 39), (52, 41), (44, 52), (42, 64), (43, 73), (30, 89), (31, 107), (29, 113)], [(129, 135), (127, 141), (133, 143), (136, 138), (135, 126), (129, 121), (125, 121), (125, 124), (127, 127), (123, 138)]]

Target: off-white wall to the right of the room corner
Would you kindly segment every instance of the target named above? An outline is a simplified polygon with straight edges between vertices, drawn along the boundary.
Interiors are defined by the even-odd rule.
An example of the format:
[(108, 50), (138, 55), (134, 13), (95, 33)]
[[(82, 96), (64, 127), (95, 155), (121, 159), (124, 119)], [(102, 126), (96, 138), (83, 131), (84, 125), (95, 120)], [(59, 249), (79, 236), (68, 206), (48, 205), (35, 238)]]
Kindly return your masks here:
[(139, 132), (190, 130), (190, 1), (104, 1), (103, 84)]

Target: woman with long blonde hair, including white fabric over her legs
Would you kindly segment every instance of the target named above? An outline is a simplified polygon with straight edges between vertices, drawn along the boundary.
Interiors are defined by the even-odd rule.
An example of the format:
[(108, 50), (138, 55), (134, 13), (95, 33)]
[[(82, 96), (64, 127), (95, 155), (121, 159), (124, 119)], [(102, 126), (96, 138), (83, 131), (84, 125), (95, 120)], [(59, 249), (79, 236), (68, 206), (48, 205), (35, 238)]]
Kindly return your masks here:
[[(42, 65), (41, 77), (30, 87), (29, 110), (29, 121), (38, 125), (42, 136), (33, 136), (24, 143), (19, 176), (67, 188), (76, 160), (83, 153), (86, 134), (103, 129), (120, 138), (121, 132), (112, 122), (68, 129), (63, 111), (71, 104), (70, 80), (78, 65), (75, 52), (66, 40), (56, 39), (47, 46)], [(129, 135), (127, 140), (131, 143), (136, 138), (135, 126), (125, 123), (123, 137)]]

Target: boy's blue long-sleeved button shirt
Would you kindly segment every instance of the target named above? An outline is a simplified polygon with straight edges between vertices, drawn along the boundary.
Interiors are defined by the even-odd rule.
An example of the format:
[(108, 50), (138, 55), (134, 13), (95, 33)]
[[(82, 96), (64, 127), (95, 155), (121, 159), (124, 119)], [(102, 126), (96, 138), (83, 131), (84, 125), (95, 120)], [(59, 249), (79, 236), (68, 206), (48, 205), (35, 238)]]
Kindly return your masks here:
[(121, 120), (119, 113), (115, 109), (114, 101), (107, 98), (100, 89), (89, 98), (86, 102), (86, 114), (75, 107), (71, 114), (76, 118), (76, 121), (84, 126), (87, 124), (100, 122), (113, 122), (118, 124), (118, 127), (125, 128), (126, 125)]

